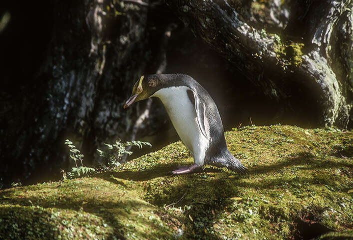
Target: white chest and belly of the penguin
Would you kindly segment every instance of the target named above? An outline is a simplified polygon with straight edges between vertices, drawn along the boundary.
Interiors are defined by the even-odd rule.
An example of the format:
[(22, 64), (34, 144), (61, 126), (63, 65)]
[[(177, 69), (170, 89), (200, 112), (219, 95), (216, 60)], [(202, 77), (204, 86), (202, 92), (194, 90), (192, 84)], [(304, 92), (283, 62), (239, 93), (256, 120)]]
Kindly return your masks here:
[(195, 105), (190, 101), (187, 86), (161, 88), (152, 96), (163, 102), (180, 139), (191, 152), (194, 161), (203, 165), (208, 139), (202, 134), (196, 118)]

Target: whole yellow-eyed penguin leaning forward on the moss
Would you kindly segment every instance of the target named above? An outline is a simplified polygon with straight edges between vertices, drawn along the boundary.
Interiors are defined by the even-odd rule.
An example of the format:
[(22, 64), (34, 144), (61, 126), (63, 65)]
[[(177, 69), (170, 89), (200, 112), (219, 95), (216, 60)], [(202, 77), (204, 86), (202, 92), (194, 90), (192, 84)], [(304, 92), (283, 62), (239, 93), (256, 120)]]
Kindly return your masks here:
[(173, 174), (200, 172), (205, 164), (225, 166), (240, 173), (247, 171), (228, 150), (216, 103), (194, 78), (180, 73), (141, 76), (124, 108), (150, 97), (162, 101), (180, 139), (194, 158), (193, 165), (180, 167)]

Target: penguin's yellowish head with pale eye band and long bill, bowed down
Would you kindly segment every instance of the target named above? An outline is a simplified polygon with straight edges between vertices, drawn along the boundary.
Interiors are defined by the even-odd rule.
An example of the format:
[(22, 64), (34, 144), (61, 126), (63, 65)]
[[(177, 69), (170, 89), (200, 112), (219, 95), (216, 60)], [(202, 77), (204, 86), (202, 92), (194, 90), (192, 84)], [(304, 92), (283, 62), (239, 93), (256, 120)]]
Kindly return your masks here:
[(141, 76), (132, 88), (131, 96), (125, 101), (124, 108), (136, 101), (149, 98), (156, 92), (156, 90), (158, 90), (158, 88), (160, 88), (159, 83), (160, 79), (157, 75), (148, 75), (147, 77)]

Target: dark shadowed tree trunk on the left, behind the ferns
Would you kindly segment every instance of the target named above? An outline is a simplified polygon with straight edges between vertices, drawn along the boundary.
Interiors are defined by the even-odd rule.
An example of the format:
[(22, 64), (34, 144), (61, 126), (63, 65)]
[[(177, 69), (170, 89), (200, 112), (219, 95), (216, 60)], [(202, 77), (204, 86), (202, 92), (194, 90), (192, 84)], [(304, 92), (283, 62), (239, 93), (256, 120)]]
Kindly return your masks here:
[(149, 6), (143, 2), (44, 2), (4, 5), (10, 15), (0, 32), (5, 183), (58, 177), (72, 165), (65, 138), (84, 153), (84, 164), (103, 142), (128, 139), (139, 104), (124, 111), (123, 102), (153, 61), (149, 41), (164, 34), (146, 32)]

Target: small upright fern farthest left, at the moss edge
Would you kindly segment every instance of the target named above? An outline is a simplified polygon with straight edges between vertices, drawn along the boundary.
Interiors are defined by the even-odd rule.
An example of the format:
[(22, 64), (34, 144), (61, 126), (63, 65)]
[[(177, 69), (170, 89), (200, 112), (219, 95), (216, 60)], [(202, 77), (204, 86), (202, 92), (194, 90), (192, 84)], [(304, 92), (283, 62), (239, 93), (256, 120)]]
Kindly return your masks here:
[[(83, 154), (80, 152), (80, 150), (77, 149), (77, 147), (70, 141), (69, 139), (65, 140), (65, 144), (69, 147), (69, 151), (71, 152), (70, 157), (72, 160), (74, 160), (76, 167), (72, 167), (69, 172), (67, 172), (67, 176), (69, 178), (77, 178), (80, 176), (88, 176), (92, 172), (95, 171), (94, 168), (92, 167), (87, 167), (83, 166)], [(77, 161), (81, 162), (80, 166), (77, 166)], [(65, 171), (63, 172), (63, 179), (66, 179), (66, 174)]]

